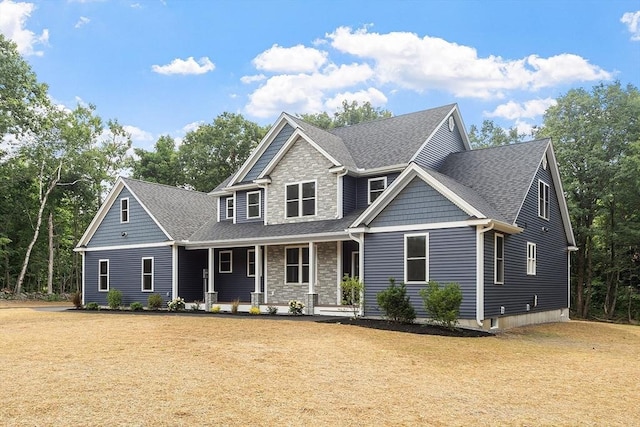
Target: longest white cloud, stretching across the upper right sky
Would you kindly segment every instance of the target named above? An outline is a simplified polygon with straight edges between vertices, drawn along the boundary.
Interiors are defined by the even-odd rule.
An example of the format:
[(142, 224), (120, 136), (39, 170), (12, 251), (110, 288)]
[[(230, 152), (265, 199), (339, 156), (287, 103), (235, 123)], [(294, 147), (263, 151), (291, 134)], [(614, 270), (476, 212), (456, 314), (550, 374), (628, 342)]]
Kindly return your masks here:
[(475, 48), (414, 33), (369, 33), (340, 27), (327, 34), (340, 52), (371, 61), (376, 79), (422, 92), (445, 90), (458, 97), (501, 98), (510, 90), (536, 90), (560, 83), (607, 80), (611, 73), (577, 55), (530, 55), (505, 60), (479, 57)]

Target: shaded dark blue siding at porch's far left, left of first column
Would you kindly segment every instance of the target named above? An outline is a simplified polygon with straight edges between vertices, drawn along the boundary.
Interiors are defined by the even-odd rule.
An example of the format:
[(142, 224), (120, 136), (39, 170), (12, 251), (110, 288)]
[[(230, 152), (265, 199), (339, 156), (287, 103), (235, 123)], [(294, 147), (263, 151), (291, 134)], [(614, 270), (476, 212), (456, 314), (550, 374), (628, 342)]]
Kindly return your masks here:
[(202, 270), (208, 268), (209, 251), (178, 248), (178, 296), (186, 302), (204, 301)]

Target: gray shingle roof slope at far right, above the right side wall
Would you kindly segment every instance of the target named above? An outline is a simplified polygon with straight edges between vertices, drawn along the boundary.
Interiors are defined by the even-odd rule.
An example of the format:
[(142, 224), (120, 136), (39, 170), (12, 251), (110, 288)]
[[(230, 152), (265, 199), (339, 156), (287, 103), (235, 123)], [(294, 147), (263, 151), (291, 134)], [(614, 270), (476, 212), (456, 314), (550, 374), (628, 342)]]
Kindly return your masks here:
[(513, 224), (548, 145), (541, 139), (452, 153), (439, 172), (475, 190)]

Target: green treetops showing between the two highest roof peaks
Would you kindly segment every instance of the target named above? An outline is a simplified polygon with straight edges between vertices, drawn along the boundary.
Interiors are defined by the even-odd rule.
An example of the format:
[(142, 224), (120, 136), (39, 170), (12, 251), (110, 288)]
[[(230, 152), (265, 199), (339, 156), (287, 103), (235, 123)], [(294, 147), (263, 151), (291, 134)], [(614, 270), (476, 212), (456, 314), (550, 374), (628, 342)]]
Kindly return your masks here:
[(392, 117), (391, 111), (373, 107), (369, 101), (358, 105), (358, 101), (349, 103), (342, 101), (342, 110), (336, 111), (333, 117), (326, 112), (318, 114), (299, 114), (302, 120), (311, 123), (321, 129), (333, 129), (341, 126), (351, 126), (358, 123), (369, 122), (380, 118)]

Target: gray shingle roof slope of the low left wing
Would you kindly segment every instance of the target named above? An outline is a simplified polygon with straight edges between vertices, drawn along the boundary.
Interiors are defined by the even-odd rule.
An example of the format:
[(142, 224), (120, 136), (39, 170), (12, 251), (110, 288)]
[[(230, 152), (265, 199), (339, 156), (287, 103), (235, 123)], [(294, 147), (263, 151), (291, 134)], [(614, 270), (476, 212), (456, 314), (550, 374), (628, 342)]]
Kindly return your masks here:
[(123, 181), (174, 240), (187, 240), (216, 218), (215, 199), (206, 193), (132, 178)]

